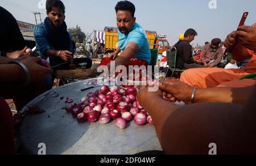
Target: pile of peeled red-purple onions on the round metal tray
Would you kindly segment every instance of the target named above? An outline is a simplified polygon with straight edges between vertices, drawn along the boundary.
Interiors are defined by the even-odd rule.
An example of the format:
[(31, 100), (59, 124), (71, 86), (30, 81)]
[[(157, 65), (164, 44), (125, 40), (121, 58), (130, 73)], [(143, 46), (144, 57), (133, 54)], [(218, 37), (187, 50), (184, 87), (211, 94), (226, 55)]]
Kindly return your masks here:
[[(143, 79), (144, 80), (144, 79)], [(72, 113), (79, 123), (99, 121), (109, 123), (114, 119), (116, 126), (121, 129), (133, 121), (138, 125), (153, 124), (152, 118), (139, 104), (136, 98), (137, 89), (129, 86), (127, 89), (116, 86), (102, 86), (96, 92), (90, 92), (81, 98), (80, 102), (72, 105), (72, 99), (67, 98), (67, 113)]]

